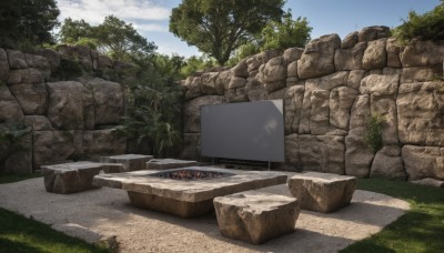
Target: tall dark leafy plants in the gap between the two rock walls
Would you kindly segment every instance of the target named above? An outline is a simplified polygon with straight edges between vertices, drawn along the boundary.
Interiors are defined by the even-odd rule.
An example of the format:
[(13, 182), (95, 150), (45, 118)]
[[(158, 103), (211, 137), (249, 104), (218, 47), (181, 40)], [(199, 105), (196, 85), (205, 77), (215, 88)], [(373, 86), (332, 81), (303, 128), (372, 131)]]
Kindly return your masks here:
[[(152, 59), (151, 59), (152, 60)], [(174, 155), (181, 143), (182, 91), (175, 82), (178, 68), (162, 61), (139, 61), (143, 71), (127, 89), (130, 107), (118, 133), (148, 142), (157, 156)]]

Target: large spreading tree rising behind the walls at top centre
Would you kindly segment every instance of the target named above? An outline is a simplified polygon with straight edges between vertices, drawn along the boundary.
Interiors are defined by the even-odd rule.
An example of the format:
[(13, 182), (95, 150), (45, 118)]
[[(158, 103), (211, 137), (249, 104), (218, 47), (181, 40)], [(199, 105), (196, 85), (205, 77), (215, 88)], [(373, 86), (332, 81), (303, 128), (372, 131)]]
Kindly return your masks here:
[(251, 41), (271, 20), (279, 21), (285, 0), (183, 0), (172, 10), (170, 31), (223, 65), (233, 50)]

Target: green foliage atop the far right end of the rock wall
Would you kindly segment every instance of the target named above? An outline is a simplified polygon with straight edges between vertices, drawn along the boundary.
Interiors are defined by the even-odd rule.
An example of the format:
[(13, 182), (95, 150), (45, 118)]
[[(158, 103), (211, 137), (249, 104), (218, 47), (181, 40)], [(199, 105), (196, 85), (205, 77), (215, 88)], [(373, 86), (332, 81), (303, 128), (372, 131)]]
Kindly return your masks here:
[(407, 20), (394, 29), (394, 36), (402, 43), (412, 39), (444, 40), (444, 0), (424, 14), (411, 11)]

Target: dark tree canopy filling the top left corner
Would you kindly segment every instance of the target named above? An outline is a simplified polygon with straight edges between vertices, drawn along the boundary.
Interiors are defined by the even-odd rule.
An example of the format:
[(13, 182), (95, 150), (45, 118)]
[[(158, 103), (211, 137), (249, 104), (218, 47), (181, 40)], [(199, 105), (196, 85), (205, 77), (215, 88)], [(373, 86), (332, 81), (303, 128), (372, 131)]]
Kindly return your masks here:
[(0, 37), (3, 38), (0, 43), (3, 47), (14, 47), (17, 42), (53, 43), (51, 31), (59, 26), (59, 14), (54, 0), (0, 1)]

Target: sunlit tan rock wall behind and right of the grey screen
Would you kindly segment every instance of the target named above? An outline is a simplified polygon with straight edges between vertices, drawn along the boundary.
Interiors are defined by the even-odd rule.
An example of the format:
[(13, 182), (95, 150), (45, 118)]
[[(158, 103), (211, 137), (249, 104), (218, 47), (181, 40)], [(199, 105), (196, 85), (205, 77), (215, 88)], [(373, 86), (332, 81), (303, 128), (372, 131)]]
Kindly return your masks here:
[[(287, 169), (444, 180), (444, 41), (398, 47), (386, 27), (266, 51), (231, 69), (196, 73), (185, 88), (182, 158), (199, 159), (200, 107), (283, 99)], [(364, 141), (372, 114), (384, 118), (383, 148)]]

